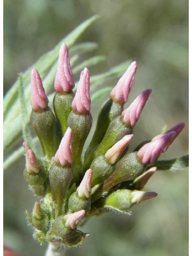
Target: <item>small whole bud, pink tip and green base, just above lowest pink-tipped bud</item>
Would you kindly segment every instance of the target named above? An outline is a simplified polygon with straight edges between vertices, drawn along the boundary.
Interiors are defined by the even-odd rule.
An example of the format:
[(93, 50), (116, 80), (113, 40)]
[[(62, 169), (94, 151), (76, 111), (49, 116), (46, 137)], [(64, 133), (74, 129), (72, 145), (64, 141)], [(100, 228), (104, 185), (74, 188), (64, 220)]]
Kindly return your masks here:
[(91, 206), (90, 194), (91, 194), (91, 179), (92, 179), (92, 170), (89, 169), (86, 171), (84, 178), (74, 192), (68, 202), (68, 208), (72, 212), (78, 212), (80, 210), (89, 211)]

